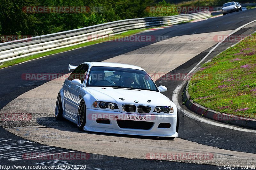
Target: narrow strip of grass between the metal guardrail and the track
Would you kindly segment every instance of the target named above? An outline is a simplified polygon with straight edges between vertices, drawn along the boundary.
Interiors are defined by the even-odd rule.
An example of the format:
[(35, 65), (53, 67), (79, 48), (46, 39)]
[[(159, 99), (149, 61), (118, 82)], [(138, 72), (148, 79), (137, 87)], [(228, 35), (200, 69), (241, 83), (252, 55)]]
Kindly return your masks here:
[(43, 57), (43, 56), (46, 56), (46, 55), (61, 53), (61, 52), (76, 49), (76, 48), (79, 48), (79, 47), (84, 47), (84, 46), (97, 44), (97, 43), (100, 43), (100, 42), (107, 41), (108, 39), (110, 39), (110, 40), (111, 39), (118, 39), (118, 37), (120, 37), (120, 36), (127, 37), (127, 36), (130, 36), (130, 35), (133, 35), (133, 34), (141, 32), (141, 31), (148, 30), (148, 29), (152, 29), (152, 28), (129, 30), (129, 31), (123, 32), (121, 34), (110, 36), (109, 38), (106, 38), (106, 39), (97, 39), (97, 40), (94, 40), (94, 41), (89, 41), (89, 42), (85, 42), (85, 43), (74, 45), (74, 46), (69, 46), (69, 47), (60, 48), (60, 49), (57, 49), (57, 50), (52, 50), (52, 51), (48, 51), (48, 52), (44, 52), (44, 53), (34, 54), (34, 55), (31, 55), (31, 56), (28, 56), (28, 57), (22, 57), (22, 58), (6, 61), (6, 62), (2, 63), (2, 65), (0, 65), (0, 68), (13, 66), (15, 64), (19, 64), (19, 63), (22, 63), (22, 62), (25, 62), (25, 61), (28, 61), (28, 60), (37, 59), (37, 58), (40, 58), (40, 57)]

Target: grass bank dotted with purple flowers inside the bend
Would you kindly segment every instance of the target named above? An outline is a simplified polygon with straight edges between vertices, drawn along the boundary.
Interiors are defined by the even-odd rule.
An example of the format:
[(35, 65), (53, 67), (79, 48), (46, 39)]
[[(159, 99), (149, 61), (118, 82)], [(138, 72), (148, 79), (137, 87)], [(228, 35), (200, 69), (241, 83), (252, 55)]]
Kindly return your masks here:
[(202, 65), (188, 86), (194, 102), (222, 113), (255, 118), (255, 37), (256, 33)]

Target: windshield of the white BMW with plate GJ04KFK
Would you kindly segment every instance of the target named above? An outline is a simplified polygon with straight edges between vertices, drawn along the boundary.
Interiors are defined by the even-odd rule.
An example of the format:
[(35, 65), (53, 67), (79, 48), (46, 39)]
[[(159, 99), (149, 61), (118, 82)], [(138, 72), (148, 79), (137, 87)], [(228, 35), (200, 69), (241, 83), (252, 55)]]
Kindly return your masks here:
[(145, 71), (118, 67), (91, 67), (86, 86), (158, 91)]

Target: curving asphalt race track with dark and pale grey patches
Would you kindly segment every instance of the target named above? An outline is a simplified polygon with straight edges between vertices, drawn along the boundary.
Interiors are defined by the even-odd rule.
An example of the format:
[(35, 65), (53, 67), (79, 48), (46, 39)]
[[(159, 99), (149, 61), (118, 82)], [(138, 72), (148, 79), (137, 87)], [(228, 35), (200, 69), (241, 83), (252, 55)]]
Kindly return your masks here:
[[(21, 76), (24, 73), (67, 74), (68, 63), (78, 65), (85, 61), (130, 63), (139, 65), (148, 73), (153, 74), (187, 74), (218, 43), (214, 39), (216, 35), (228, 35), (236, 28), (255, 19), (256, 9), (246, 10), (218, 18), (139, 34), (150, 35), (155, 37), (156, 40), (162, 40), (165, 37), (163, 41), (104, 42), (0, 69), (0, 86), (2, 87), (0, 91), (0, 113), (33, 114), (32, 121), (0, 122), (1, 126), (8, 130), (6, 131), (1, 127), (0, 161), (10, 166), (13, 164), (73, 164), (86, 165), (86, 169), (218, 169), (217, 165), (223, 165), (224, 163), (244, 163), (245, 165), (255, 163), (255, 130), (246, 131), (240, 127), (230, 126), (239, 128), (240, 130), (238, 131), (232, 128), (224, 128), (221, 125), (214, 126), (196, 121), (184, 116), (182, 111), (182, 109), (186, 110), (184, 106), (181, 106), (182, 109), (178, 111), (180, 119), (179, 136), (174, 140), (77, 132), (74, 124), (68, 121), (56, 121), (52, 114), (54, 113), (54, 104), (52, 103), (57, 97), (55, 91), (60, 89), (59, 87), (61, 87), (63, 81), (28, 81), (22, 79)], [(256, 22), (245, 26), (234, 35), (249, 35), (255, 31)], [(211, 59), (214, 55), (235, 43), (224, 41), (204, 61)], [(169, 62), (165, 61), (166, 58)], [(172, 99), (173, 90), (181, 83), (182, 80), (162, 81), (156, 78), (157, 85), (164, 85), (168, 88), (163, 94), (170, 99)], [(42, 89), (50, 93), (51, 89), (55, 91), (52, 94), (42, 94)], [(36, 97), (33, 94), (39, 94), (42, 97)], [(181, 91), (178, 99), (182, 103)], [(51, 132), (51, 134), (45, 133), (40, 136), (43, 131)], [(64, 137), (66, 136), (63, 134), (67, 134), (72, 139), (65, 139)], [(83, 136), (86, 139), (79, 141), (79, 138), (83, 138)], [(74, 141), (73, 143), (72, 140)], [(140, 143), (142, 144), (140, 146), (141, 151), (139, 150), (140, 148), (136, 147)], [(134, 145), (134, 149), (132, 145)], [(131, 147), (130, 150), (128, 146)], [(225, 155), (225, 158), (221, 157), (210, 161), (172, 160), (175, 162), (171, 162), (147, 160), (145, 156), (143, 157), (139, 153), (144, 154), (144, 152), (152, 151), (173, 152), (173, 148), (177, 148), (176, 152), (193, 152), (196, 147), (198, 148), (197, 152), (214, 152)], [(88, 160), (22, 159), (22, 153), (33, 151), (51, 153), (79, 151), (88, 152), (90, 156)]]

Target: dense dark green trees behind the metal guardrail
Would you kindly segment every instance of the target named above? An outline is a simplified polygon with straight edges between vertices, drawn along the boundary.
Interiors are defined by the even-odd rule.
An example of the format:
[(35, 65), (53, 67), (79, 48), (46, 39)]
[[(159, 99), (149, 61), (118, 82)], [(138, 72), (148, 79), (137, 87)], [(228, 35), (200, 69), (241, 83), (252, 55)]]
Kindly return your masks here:
[[(155, 0), (1, 0), (0, 34), (35, 36), (121, 19), (170, 16), (177, 12), (154, 13), (147, 9), (149, 6), (172, 5), (165, 1), (156, 2)], [(85, 11), (69, 13), (49, 9), (51, 7), (79, 8), (84, 6)], [(43, 7), (48, 9), (45, 10)]]

